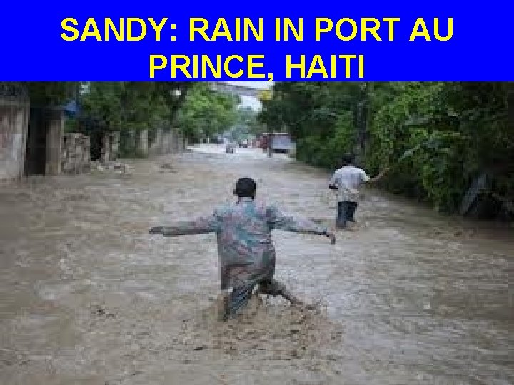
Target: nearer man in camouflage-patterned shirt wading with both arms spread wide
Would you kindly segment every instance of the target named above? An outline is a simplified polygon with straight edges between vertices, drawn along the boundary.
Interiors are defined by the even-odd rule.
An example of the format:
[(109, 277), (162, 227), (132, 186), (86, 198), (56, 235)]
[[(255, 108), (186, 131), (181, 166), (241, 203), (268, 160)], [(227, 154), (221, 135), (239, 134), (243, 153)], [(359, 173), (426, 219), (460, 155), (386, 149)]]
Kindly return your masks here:
[[(331, 244), (336, 242), (331, 232), (310, 220), (293, 218), (275, 206), (256, 203), (256, 191), (255, 180), (241, 178), (234, 189), (234, 195), (238, 197), (235, 205), (214, 210), (208, 217), (150, 230), (150, 234), (164, 237), (216, 232), (221, 290), (225, 292), (223, 321), (246, 307), (257, 284), (259, 293), (273, 297), (281, 295), (293, 304), (301, 303), (286, 290), (284, 284), (273, 279), (276, 255), (271, 230), (323, 235), (330, 238)], [(231, 292), (227, 292), (230, 289)]]

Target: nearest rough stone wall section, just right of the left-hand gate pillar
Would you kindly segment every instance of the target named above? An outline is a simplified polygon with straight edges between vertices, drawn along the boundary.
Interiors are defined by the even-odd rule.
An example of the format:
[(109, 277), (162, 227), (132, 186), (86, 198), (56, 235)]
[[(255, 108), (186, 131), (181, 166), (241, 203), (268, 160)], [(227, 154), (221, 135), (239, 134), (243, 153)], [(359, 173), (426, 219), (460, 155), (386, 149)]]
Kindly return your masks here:
[(79, 174), (91, 168), (91, 143), (89, 136), (66, 133), (63, 137), (62, 172)]

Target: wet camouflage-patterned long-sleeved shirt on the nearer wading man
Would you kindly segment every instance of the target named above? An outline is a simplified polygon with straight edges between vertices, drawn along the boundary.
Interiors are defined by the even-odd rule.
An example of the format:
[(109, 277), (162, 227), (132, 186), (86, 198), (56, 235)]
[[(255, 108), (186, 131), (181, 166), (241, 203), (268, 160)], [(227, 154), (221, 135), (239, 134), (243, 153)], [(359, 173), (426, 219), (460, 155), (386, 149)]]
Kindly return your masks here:
[(273, 229), (315, 235), (325, 235), (327, 230), (311, 220), (286, 215), (274, 205), (243, 199), (214, 210), (213, 215), (162, 227), (162, 234), (174, 237), (216, 233), (221, 289), (228, 289), (273, 277), (276, 261), (271, 240)]

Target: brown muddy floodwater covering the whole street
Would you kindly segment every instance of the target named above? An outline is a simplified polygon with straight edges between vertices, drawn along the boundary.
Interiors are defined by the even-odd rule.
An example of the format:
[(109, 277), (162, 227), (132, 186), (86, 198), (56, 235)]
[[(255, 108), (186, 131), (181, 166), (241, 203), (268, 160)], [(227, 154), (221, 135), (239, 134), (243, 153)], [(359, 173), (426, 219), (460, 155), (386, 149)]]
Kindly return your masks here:
[(316, 310), (253, 299), (219, 324), (215, 236), (148, 228), (247, 175), (333, 225), (328, 174), (216, 145), (130, 164), (0, 188), (0, 384), (514, 383), (512, 230), (366, 191), (334, 246), (274, 233), (277, 278)]

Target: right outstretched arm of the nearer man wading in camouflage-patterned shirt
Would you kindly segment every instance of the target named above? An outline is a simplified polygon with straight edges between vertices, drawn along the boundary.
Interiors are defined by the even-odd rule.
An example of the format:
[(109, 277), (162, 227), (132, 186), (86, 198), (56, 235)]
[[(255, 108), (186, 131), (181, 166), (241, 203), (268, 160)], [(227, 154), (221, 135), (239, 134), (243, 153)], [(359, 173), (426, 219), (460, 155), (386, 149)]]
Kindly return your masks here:
[(288, 215), (275, 206), (268, 207), (268, 223), (272, 229), (280, 229), (288, 232), (296, 232), (299, 234), (323, 235), (336, 243), (336, 237), (327, 227), (321, 227), (311, 220)]

